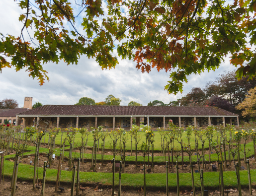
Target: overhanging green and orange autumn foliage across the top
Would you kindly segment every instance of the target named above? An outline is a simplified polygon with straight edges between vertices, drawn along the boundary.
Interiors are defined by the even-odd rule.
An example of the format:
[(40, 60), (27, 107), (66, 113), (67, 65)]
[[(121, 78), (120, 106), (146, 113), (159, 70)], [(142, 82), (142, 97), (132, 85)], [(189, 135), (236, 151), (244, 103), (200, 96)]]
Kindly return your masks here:
[(188, 75), (215, 70), (227, 55), (237, 78), (256, 74), (254, 0), (19, 0), (19, 6), (23, 27), (18, 37), (1, 35), (0, 70), (25, 68), (41, 85), (49, 79), (43, 64), (77, 64), (86, 55), (111, 68), (118, 63), (114, 48), (142, 72), (170, 71), (165, 89), (174, 94)]

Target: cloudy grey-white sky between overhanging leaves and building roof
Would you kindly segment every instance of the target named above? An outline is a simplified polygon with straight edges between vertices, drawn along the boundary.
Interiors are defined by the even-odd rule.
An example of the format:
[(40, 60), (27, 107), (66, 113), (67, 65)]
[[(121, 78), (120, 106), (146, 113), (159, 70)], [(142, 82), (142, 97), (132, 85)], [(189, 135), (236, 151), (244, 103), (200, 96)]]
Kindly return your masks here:
[[(14, 0), (0, 0), (0, 33), (19, 36), (23, 24), (18, 21), (18, 17), (24, 12)], [(44, 65), (44, 69), (48, 71), (50, 81), (46, 81), (43, 86), (39, 85), (37, 79), (29, 77), (25, 70), (16, 72), (13, 68), (3, 68), (0, 73), (0, 100), (13, 98), (23, 107), (24, 97), (28, 96), (33, 97), (33, 103), (73, 105), (81, 97), (100, 102), (113, 94), (121, 98), (121, 105), (128, 105), (130, 101), (147, 105), (153, 100), (169, 103), (184, 96), (192, 87), (203, 88), (206, 82), (214, 80), (224, 70), (234, 69), (229, 58), (226, 58), (216, 71), (190, 75), (188, 83), (184, 84), (183, 93), (174, 95), (164, 90), (169, 73), (152, 69), (149, 74), (143, 74), (135, 68), (134, 62), (118, 61), (119, 65), (110, 70), (102, 70), (93, 59), (85, 56), (78, 65), (49, 63)]]

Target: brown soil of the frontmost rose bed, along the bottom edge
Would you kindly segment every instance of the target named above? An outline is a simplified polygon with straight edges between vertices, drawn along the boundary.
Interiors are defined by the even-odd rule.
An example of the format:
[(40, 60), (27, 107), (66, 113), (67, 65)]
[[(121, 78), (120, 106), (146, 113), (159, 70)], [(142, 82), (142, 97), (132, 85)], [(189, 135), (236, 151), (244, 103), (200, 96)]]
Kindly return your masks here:
[[(0, 185), (0, 196), (9, 196), (11, 193), (10, 190), (10, 181), (5, 181), (4, 184)], [(39, 190), (32, 190), (33, 184), (28, 183), (25, 181), (18, 181), (17, 182), (17, 189), (16, 189), (16, 196), (39, 196), (41, 195), (41, 189)], [(42, 185), (39, 185), (39, 187), (42, 187)], [(64, 192), (58, 191), (55, 192), (55, 186), (51, 184), (46, 184), (45, 185), (45, 192), (44, 196), (70, 196), (71, 195), (71, 187), (70, 186), (63, 186), (65, 189)], [(112, 189), (100, 189), (98, 187), (81, 187), (84, 189), (84, 193), (80, 191), (79, 196), (111, 196), (112, 194)], [(238, 191), (237, 189), (230, 189), (230, 194), (229, 196), (238, 196)], [(115, 195), (117, 196), (118, 189), (115, 190)], [(75, 194), (76, 194), (76, 188), (75, 188)], [(140, 190), (122, 190), (121, 191), (122, 196), (144, 196), (143, 189), (141, 188)], [(166, 192), (163, 191), (146, 191), (147, 196), (165, 196)], [(175, 196), (175, 192), (169, 192), (170, 196)], [(180, 192), (181, 196), (192, 196), (191, 190), (190, 191), (181, 191)], [(196, 196), (200, 196), (201, 193), (200, 191), (196, 192)], [(220, 192), (217, 190), (211, 191), (209, 190), (209, 195), (210, 196), (219, 196)], [(249, 196), (249, 190), (242, 190), (242, 195), (243, 196)], [(253, 196), (256, 196), (256, 191), (253, 189)]]

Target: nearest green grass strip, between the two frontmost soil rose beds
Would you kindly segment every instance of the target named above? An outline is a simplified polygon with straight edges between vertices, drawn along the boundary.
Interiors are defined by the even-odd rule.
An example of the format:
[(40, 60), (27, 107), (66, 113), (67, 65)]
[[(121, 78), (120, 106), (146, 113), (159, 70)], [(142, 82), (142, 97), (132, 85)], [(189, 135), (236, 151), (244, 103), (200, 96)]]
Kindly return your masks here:
[[(34, 147), (30, 146), (28, 150), (34, 151)], [(41, 148), (42, 152), (46, 152), (47, 149)], [(24, 155), (31, 154), (30, 152), (24, 153)], [(66, 154), (66, 153), (65, 153)], [(12, 158), (15, 155), (5, 156), (5, 159)], [(19, 164), (18, 167), (18, 179), (32, 181), (33, 179), (33, 166), (26, 164)], [(11, 177), (13, 170), (13, 162), (4, 160), (4, 175), (5, 177)], [(39, 168), (39, 179), (42, 179), (43, 168)], [(226, 188), (236, 188), (237, 179), (234, 171), (224, 172), (224, 185)], [(47, 169), (46, 182), (54, 183), (56, 181), (57, 170)], [(242, 187), (248, 187), (248, 174), (247, 171), (240, 171), (241, 185)], [(61, 184), (69, 184), (71, 182), (72, 173), (69, 171), (61, 171)], [(251, 170), (252, 185), (256, 186), (256, 170)], [(82, 184), (101, 183), (103, 186), (111, 186), (112, 173), (93, 173), (93, 172), (81, 172), (80, 181)], [(199, 173), (194, 173), (194, 181), (196, 189), (200, 189), (200, 176)], [(143, 174), (122, 174), (122, 187), (139, 189), (143, 187)], [(115, 185), (118, 185), (118, 174), (115, 174)], [(166, 174), (146, 174), (147, 190), (165, 190), (166, 189)], [(181, 190), (191, 190), (191, 174), (180, 173), (179, 185)], [(204, 173), (204, 186), (205, 189), (215, 190), (219, 187), (218, 172), (205, 172)], [(176, 190), (176, 174), (169, 174), (169, 187), (171, 190)]]

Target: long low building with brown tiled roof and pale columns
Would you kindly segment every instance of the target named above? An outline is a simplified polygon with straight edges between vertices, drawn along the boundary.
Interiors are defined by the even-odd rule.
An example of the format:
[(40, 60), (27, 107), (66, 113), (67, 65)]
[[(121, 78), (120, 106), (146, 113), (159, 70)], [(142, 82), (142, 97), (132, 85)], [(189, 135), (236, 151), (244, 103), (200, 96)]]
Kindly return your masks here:
[(153, 129), (168, 128), (169, 120), (184, 128), (189, 125), (202, 128), (222, 124), (239, 126), (237, 114), (217, 107), (44, 105), (22, 112), (17, 118), (24, 119), (24, 127), (39, 123), (47, 128), (103, 126), (130, 130), (133, 119), (139, 126), (140, 118), (144, 118), (144, 125)]

